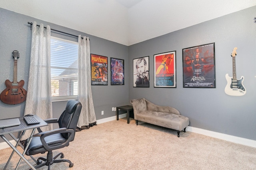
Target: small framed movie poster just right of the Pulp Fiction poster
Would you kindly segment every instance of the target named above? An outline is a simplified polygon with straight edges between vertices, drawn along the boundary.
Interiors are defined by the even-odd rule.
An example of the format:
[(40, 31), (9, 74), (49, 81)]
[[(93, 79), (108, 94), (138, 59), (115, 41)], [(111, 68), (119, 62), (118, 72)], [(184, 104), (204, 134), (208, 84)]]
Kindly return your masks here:
[(124, 85), (124, 60), (110, 58), (111, 85)]

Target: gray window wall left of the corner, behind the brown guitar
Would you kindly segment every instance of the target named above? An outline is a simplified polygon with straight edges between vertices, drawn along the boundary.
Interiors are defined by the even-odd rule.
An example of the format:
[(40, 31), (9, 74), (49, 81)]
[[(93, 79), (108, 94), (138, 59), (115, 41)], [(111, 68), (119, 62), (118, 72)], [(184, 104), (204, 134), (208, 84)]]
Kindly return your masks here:
[[(12, 58), (12, 51), (14, 50), (18, 50), (20, 53), (20, 58), (18, 59), (18, 81), (24, 80), (24, 89), (27, 89), (32, 33), (28, 21), (36, 21), (37, 24), (43, 23), (44, 26), (50, 25), (52, 29), (64, 31), (73, 35), (89, 37), (90, 52), (108, 57), (108, 63), (110, 63), (110, 57), (124, 59), (125, 85), (110, 85), (111, 73), (109, 65), (108, 86), (92, 86), (92, 98), (94, 100), (96, 119), (115, 116), (116, 112), (112, 111), (112, 107), (129, 104), (128, 46), (48, 23), (46, 21), (37, 20), (35, 18), (4, 10), (2, 8), (0, 8), (0, 92), (6, 88), (4, 83), (6, 79), (10, 80), (11, 82), (13, 81), (14, 60)], [(52, 31), (51, 35), (77, 41), (76, 37), (60, 35), (59, 33), (54, 33), (54, 31)], [(53, 102), (53, 117), (59, 117), (59, 115), (65, 109), (65, 105), (66, 101)], [(0, 119), (23, 116), (24, 108), (25, 102), (17, 105), (8, 105), (0, 102)], [(104, 111), (104, 115), (101, 115), (101, 111)]]

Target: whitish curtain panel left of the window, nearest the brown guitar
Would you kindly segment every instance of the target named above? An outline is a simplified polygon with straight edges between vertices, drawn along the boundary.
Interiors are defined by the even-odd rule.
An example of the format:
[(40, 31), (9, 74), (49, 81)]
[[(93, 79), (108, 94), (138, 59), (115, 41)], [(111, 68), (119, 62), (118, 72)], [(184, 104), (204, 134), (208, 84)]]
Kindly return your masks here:
[[(51, 99), (51, 70), (50, 70), (50, 26), (41, 23), (32, 25), (32, 42), (30, 53), (30, 68), (28, 77), (28, 90), (24, 115), (32, 113), (41, 119), (52, 118), (52, 99)], [(43, 127), (43, 131), (52, 129), (52, 125)], [(22, 137), (25, 140), (31, 131), (26, 132)]]

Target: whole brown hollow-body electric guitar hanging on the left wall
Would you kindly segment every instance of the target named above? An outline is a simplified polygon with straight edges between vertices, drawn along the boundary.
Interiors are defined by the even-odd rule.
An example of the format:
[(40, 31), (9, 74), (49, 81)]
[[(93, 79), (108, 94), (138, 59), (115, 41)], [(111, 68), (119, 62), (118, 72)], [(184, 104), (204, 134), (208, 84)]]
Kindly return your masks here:
[(10, 80), (5, 81), (6, 89), (0, 94), (0, 100), (5, 104), (20, 104), (26, 100), (27, 91), (23, 88), (24, 80), (17, 82), (17, 59), (19, 58), (19, 52), (14, 50), (12, 57), (14, 58), (13, 82)]

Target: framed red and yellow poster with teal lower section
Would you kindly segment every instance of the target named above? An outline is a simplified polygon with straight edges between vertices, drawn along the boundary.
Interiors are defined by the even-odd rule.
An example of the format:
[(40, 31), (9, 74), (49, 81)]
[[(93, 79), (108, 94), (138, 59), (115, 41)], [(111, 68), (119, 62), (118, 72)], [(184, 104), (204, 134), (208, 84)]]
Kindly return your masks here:
[(154, 55), (154, 87), (176, 87), (176, 51)]

